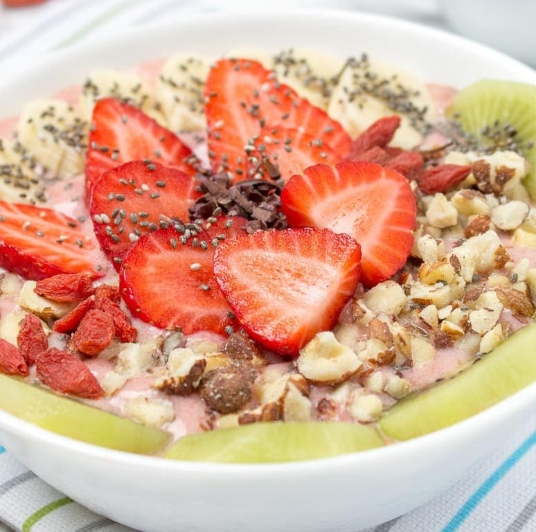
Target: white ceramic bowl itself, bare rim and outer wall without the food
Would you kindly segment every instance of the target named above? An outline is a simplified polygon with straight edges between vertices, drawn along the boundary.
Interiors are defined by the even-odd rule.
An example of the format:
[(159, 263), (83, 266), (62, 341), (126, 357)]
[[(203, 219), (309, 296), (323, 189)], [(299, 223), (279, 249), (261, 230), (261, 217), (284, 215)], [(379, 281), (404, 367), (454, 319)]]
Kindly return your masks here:
[[(0, 81), (0, 116), (80, 82), (96, 67), (129, 67), (173, 51), (219, 55), (255, 44), (307, 46), (346, 57), (366, 51), (425, 80), (536, 83), (536, 72), (464, 39), (407, 22), (348, 12), (217, 15), (180, 19), (72, 48)], [(93, 511), (148, 532), (357, 530), (405, 513), (445, 490), (519, 427), (536, 384), (434, 434), (333, 459), (274, 465), (181, 463), (115, 452), (0, 412), (0, 441), (48, 483)]]

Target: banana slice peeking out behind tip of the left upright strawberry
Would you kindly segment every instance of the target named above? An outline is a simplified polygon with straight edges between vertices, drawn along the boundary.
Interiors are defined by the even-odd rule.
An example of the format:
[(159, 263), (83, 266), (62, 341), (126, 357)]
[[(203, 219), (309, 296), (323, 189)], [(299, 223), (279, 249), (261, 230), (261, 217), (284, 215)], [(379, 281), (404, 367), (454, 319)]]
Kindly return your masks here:
[(96, 101), (111, 96), (140, 107), (154, 120), (161, 122), (162, 114), (155, 105), (151, 93), (152, 90), (147, 83), (134, 72), (95, 70), (89, 73), (82, 86), (80, 112), (86, 120), (91, 120)]

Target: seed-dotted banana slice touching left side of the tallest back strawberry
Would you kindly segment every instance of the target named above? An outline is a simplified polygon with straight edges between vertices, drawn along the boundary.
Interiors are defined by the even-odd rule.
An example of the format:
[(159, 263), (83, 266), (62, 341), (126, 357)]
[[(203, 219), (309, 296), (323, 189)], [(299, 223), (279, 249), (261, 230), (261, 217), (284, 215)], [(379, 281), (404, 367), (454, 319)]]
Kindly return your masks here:
[(156, 98), (175, 132), (204, 130), (203, 91), (208, 61), (186, 53), (176, 53), (164, 64), (157, 80)]

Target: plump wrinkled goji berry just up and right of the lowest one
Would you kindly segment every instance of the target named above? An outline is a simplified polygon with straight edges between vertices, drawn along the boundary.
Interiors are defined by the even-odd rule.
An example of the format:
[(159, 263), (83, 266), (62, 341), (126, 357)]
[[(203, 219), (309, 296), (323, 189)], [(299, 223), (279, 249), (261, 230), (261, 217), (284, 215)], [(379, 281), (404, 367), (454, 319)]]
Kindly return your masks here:
[(92, 308), (80, 321), (73, 334), (75, 348), (89, 357), (96, 357), (107, 348), (116, 333), (114, 320), (106, 312)]

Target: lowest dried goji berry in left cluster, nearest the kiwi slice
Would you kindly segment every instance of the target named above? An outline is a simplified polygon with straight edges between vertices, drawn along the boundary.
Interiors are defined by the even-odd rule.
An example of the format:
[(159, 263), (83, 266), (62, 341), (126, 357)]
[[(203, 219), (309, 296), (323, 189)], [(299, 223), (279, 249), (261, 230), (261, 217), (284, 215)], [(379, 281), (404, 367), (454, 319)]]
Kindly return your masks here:
[(104, 394), (95, 375), (73, 353), (51, 347), (37, 358), (35, 369), (43, 384), (60, 393), (88, 399)]

